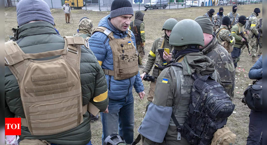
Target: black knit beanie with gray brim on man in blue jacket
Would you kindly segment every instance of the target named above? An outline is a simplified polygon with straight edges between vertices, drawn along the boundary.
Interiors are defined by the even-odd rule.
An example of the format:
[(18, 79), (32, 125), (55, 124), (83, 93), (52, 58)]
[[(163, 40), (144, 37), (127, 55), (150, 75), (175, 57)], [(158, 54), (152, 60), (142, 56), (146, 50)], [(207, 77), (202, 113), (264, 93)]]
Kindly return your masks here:
[(111, 4), (110, 18), (120, 15), (133, 15), (131, 2), (128, 0), (114, 0)]

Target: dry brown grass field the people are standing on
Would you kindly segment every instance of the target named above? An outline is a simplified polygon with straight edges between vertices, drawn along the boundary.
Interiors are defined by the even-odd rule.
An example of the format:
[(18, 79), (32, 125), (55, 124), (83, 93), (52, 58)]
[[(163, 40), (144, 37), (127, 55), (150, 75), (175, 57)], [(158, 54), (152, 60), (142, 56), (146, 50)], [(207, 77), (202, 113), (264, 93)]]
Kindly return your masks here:
[[(255, 5), (238, 5), (237, 13), (240, 15), (249, 16), (254, 8), (259, 7), (262, 9), (262, 4)], [(182, 19), (195, 19), (197, 16), (205, 14), (209, 9), (215, 9), (215, 13), (218, 12), (219, 6), (215, 7), (194, 7), (194, 8), (185, 8), (185, 9), (156, 9), (156, 10), (147, 10), (143, 11), (145, 31), (146, 31), (146, 57), (144, 57), (143, 62), (147, 61), (148, 52), (151, 49), (152, 43), (156, 38), (159, 38), (163, 35), (162, 25), (164, 21), (168, 18), (175, 18), (178, 21)], [(224, 14), (226, 15), (232, 10), (232, 6), (223, 6)], [(51, 9), (52, 15), (54, 17), (54, 22), (56, 23), (56, 28), (60, 32), (61, 36), (72, 36), (77, 33), (78, 22), (80, 18), (87, 16), (93, 21), (94, 28), (97, 26), (101, 18), (109, 14), (109, 12), (96, 12), (96, 11), (85, 11), (85, 10), (72, 10), (72, 20), (70, 24), (65, 23), (65, 16), (61, 9)], [(262, 18), (262, 14), (258, 16)], [(16, 9), (15, 8), (6, 8), (5, 9), (5, 41), (9, 40), (9, 36), (13, 35), (11, 32), (12, 28), (16, 28), (17, 19), (16, 19)], [(228, 118), (227, 126), (237, 135), (235, 144), (244, 145), (246, 144), (246, 137), (248, 136), (248, 124), (249, 124), (249, 112), (247, 106), (241, 103), (239, 100), (242, 97), (242, 93), (248, 84), (252, 83), (252, 80), (248, 78), (249, 69), (253, 66), (252, 58), (248, 55), (248, 50), (241, 54), (241, 59), (238, 62), (238, 68), (241, 72), (236, 74), (235, 82), (235, 96), (234, 104), (235, 112)], [(142, 69), (140, 69), (142, 73)], [(145, 92), (148, 94), (149, 82), (143, 81), (145, 86)], [(135, 91), (133, 91), (135, 92)], [(135, 128), (134, 128), (134, 138), (138, 135), (138, 127), (143, 119), (146, 106), (146, 97), (143, 100), (140, 100), (137, 93), (133, 93), (135, 102), (134, 102), (134, 112), (135, 112)], [(101, 135), (102, 135), (102, 124), (98, 120), (96, 122), (91, 122), (92, 130), (92, 144), (100, 145), (101, 144)], [(140, 143), (139, 143), (140, 144)]]

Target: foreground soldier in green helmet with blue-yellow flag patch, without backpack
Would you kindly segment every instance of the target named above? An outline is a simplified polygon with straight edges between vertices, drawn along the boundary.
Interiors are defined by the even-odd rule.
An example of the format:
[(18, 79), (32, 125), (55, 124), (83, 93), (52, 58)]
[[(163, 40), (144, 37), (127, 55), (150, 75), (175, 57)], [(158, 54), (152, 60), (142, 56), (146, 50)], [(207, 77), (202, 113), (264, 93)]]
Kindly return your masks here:
[(204, 46), (204, 38), (197, 22), (179, 21), (172, 30), (170, 44), (177, 50), (176, 65), (168, 65), (158, 77), (155, 98), (138, 129), (143, 145), (189, 145), (186, 138), (178, 139), (171, 114), (181, 126), (184, 124), (194, 82), (192, 73), (197, 72), (199, 77), (212, 74), (215, 80), (219, 77), (215, 75), (214, 62), (199, 52), (199, 46)]

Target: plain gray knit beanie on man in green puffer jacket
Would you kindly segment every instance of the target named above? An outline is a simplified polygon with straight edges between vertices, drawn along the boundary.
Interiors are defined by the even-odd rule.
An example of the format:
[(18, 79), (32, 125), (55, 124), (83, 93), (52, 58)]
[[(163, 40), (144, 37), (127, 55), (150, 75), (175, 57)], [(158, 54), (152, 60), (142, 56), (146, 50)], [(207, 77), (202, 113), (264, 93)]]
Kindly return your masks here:
[(54, 25), (48, 4), (43, 0), (21, 0), (17, 5), (18, 26), (30, 21), (46, 21)]

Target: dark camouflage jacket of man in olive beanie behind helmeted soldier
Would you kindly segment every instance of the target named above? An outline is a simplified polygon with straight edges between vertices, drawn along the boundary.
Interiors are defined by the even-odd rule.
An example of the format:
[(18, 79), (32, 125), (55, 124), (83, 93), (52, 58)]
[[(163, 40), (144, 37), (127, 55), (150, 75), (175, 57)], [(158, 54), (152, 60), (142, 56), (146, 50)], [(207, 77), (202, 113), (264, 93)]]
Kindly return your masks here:
[(225, 48), (223, 48), (223, 46), (218, 44), (216, 37), (214, 37), (208, 45), (202, 48), (202, 52), (215, 62), (215, 69), (221, 76), (222, 86), (224, 87), (225, 92), (231, 97), (231, 100), (233, 100), (235, 67), (231, 55)]

